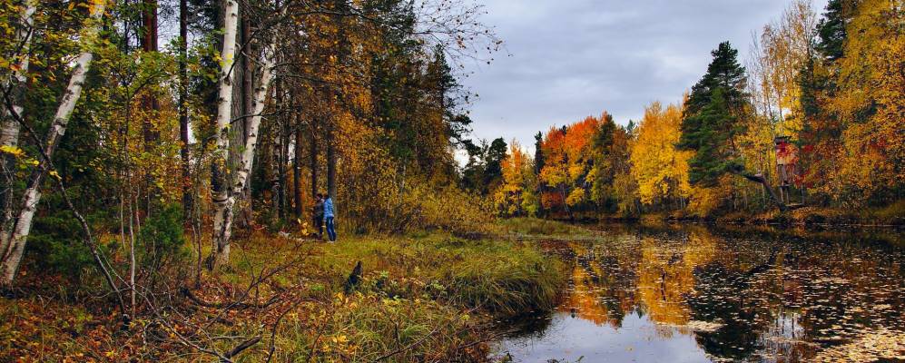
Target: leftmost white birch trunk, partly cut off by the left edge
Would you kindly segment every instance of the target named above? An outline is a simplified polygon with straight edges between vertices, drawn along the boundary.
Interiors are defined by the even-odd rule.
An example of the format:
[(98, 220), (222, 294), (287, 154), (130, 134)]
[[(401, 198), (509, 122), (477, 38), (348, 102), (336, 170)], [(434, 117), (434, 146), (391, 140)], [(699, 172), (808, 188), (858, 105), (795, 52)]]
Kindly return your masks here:
[[(26, 74), (28, 74), (28, 62), (31, 55), (32, 34), (34, 34), (34, 11), (37, 9), (37, 0), (25, 0), (25, 7), (20, 14), (19, 28), (15, 32), (15, 44), (22, 44), (19, 51), (19, 60), (16, 62), (15, 70), (12, 78), (5, 80), (3, 87), (10, 89), (10, 101), (13, 113), (22, 116), (22, 99), (25, 95), (25, 83), (27, 82)], [(5, 100), (4, 102), (5, 103)], [(14, 119), (12, 113), (4, 104), (0, 107), (0, 146), (18, 146), (19, 143), (19, 123)], [(15, 172), (13, 169), (13, 161), (11, 158), (3, 159), (3, 171), (9, 172), (4, 193), (3, 216), (0, 216), (3, 225), (0, 226), (0, 251), (6, 250), (6, 244), (9, 243), (9, 230), (12, 228), (10, 223), (13, 221), (13, 183), (15, 182)]]

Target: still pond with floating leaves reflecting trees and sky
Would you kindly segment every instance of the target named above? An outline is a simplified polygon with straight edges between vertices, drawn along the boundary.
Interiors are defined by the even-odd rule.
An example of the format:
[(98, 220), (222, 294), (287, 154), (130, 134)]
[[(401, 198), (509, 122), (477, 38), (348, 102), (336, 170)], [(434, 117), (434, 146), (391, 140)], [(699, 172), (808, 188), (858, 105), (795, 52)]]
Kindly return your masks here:
[(905, 362), (900, 233), (604, 225), (545, 241), (571, 282), (516, 319), (514, 362)]

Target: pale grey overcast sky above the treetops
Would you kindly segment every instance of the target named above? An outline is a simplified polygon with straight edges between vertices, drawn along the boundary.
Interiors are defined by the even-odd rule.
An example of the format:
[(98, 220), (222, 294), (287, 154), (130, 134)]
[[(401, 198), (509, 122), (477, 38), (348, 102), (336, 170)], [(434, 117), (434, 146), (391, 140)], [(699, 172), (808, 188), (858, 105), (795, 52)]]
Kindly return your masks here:
[[(478, 0), (480, 1), (480, 0)], [(654, 100), (678, 102), (725, 40), (747, 59), (751, 34), (787, 0), (483, 0), (506, 50), (492, 64), (466, 63), (478, 98), (474, 135), (516, 138), (603, 111), (639, 120)], [(826, 0), (814, 0), (822, 13)], [(507, 55), (509, 54), (509, 55)]]

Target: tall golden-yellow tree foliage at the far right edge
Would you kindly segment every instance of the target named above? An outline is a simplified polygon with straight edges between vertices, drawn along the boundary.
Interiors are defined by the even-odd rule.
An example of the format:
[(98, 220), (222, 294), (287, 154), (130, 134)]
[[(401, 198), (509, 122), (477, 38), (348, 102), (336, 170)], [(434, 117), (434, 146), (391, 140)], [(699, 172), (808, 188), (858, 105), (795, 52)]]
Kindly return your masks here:
[[(898, 4), (898, 5), (897, 5)], [(905, 181), (905, 10), (900, 2), (858, 4), (838, 62), (839, 92), (831, 110), (846, 125), (841, 135), (841, 185), (870, 196)]]

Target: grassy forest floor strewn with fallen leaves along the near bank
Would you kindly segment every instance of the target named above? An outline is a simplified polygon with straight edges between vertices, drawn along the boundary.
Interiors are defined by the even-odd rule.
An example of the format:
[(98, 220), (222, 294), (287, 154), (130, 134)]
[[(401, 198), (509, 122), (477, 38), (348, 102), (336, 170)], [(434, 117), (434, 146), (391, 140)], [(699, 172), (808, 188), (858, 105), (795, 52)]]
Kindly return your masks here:
[(337, 243), (258, 232), (197, 285), (191, 255), (159, 278), (140, 273), (155, 282), (140, 289), (128, 326), (90, 270), (26, 266), (15, 298), (0, 298), (0, 362), (487, 361), (495, 321), (553, 309), (566, 283), (562, 262), (533, 240), (582, 233), (540, 220), (497, 230)]

